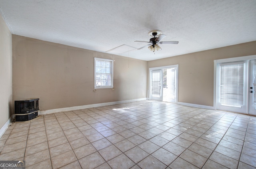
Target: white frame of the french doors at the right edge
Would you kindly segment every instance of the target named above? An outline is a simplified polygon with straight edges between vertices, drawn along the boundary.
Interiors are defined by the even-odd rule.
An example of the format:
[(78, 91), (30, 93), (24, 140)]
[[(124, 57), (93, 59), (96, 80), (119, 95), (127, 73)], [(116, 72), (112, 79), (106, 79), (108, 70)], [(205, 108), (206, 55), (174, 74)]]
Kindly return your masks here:
[[(250, 60), (255, 60), (256, 59), (256, 55), (248, 55), (248, 56), (242, 56), (242, 57), (232, 57), (232, 58), (226, 58), (226, 59), (218, 59), (218, 60), (214, 60), (214, 95), (213, 95), (213, 107), (214, 110), (217, 110), (217, 83), (218, 83), (218, 74), (217, 74), (217, 66), (218, 63), (226, 63), (226, 62), (236, 62), (236, 61), (250, 61)], [(248, 65), (249, 66), (249, 65)], [(249, 71), (249, 70), (248, 70)], [(248, 77), (249, 78), (249, 77)], [(248, 83), (249, 85), (249, 83)], [(247, 86), (249, 87), (249, 86)], [(247, 99), (249, 95), (247, 93)], [(249, 102), (247, 102), (247, 104), (249, 104)], [(247, 105), (247, 113), (248, 114), (248, 107), (249, 105)]]

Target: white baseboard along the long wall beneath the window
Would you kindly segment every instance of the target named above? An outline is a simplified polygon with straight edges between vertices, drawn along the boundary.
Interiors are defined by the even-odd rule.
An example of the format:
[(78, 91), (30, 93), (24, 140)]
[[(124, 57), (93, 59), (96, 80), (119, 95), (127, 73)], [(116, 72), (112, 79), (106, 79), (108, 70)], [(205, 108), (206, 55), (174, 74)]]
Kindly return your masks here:
[(142, 101), (142, 100), (147, 100), (147, 98), (138, 98), (138, 99), (132, 99), (132, 100), (122, 100), (122, 101), (116, 101), (116, 102), (106, 102), (106, 103), (98, 103), (98, 104), (88, 104), (88, 105), (83, 105), (83, 106), (73, 106), (73, 107), (56, 108), (56, 109), (50, 109), (50, 110), (42, 110), (42, 111), (38, 111), (38, 115), (58, 113), (58, 112), (66, 112), (66, 111), (79, 110), (79, 109), (92, 108), (92, 107), (99, 107), (99, 106), (108, 106), (108, 105), (112, 105), (112, 104), (136, 102), (136, 101)]

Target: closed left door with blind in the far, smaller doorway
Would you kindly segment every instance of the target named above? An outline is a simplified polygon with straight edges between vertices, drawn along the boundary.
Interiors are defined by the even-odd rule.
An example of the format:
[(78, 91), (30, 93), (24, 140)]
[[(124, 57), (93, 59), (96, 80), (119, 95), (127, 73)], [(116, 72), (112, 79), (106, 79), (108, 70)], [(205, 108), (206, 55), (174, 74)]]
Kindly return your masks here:
[(152, 100), (160, 100), (163, 99), (162, 92), (162, 69), (152, 70), (151, 71), (151, 88), (150, 88), (150, 98)]

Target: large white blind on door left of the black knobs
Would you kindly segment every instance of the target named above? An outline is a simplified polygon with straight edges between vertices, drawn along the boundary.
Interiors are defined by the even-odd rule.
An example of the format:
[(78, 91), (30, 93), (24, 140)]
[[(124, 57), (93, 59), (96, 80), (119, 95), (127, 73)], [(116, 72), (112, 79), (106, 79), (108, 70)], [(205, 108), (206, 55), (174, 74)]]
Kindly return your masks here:
[(220, 65), (220, 103), (241, 107), (244, 104), (244, 63)]

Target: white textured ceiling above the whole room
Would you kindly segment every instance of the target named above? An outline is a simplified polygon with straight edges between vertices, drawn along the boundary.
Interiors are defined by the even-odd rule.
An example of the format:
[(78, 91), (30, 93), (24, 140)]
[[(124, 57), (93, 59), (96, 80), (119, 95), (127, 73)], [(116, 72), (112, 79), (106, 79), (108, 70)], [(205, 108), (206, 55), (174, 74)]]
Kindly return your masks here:
[[(256, 0), (0, 0), (12, 34), (146, 61), (256, 41)], [(148, 32), (167, 35), (162, 51)]]

